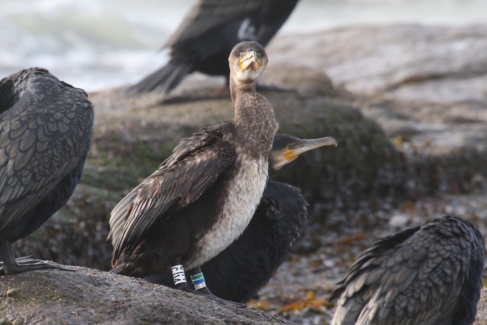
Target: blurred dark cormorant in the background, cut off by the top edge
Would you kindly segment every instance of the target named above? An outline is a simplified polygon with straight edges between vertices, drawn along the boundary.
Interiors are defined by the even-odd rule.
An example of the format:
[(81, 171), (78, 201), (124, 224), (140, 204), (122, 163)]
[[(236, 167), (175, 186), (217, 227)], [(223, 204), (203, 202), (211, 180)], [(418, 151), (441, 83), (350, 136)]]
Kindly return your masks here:
[(298, 0), (199, 0), (168, 39), (169, 62), (129, 88), (167, 93), (187, 75), (199, 71), (228, 77), (225, 59), (233, 45), (245, 40), (267, 45)]

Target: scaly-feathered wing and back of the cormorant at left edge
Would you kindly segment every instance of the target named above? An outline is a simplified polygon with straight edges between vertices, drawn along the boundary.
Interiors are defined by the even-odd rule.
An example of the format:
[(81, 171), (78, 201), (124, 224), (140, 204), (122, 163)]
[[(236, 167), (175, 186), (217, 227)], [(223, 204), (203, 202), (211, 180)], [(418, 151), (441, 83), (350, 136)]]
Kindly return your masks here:
[(80, 164), (91, 137), (93, 105), (83, 90), (40, 68), (0, 80), (0, 89), (1, 231)]

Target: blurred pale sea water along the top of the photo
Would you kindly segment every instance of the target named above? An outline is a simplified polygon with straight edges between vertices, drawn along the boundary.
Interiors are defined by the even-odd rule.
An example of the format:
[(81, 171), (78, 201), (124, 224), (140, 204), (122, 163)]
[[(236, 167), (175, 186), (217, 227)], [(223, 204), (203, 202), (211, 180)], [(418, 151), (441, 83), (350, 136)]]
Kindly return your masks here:
[[(195, 0), (0, 2), (0, 77), (41, 66), (88, 91), (132, 83)], [(280, 33), (347, 24), (486, 23), (487, 0), (301, 0)]]

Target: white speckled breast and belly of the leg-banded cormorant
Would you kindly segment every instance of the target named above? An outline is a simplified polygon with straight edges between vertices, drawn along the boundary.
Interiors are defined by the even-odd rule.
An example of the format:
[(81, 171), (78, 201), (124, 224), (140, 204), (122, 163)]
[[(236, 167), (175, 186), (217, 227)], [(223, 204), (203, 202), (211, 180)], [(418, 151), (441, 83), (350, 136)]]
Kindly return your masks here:
[[(237, 239), (247, 227), (261, 201), (267, 183), (267, 159), (260, 159), (238, 153), (241, 171), (232, 182), (228, 200), (225, 200), (223, 217), (205, 234), (198, 243), (199, 254), (192, 265), (195, 268), (209, 261)], [(255, 189), (255, 190), (250, 190)]]

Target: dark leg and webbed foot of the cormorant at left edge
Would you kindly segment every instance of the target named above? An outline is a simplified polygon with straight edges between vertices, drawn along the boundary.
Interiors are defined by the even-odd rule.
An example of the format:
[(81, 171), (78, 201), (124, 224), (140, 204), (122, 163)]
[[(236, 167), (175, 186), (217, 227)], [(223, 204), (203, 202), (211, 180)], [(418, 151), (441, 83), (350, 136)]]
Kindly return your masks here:
[(69, 268), (62, 268), (57, 265), (49, 264), (47, 262), (36, 260), (34, 256), (25, 256), (15, 258), (14, 250), (12, 249), (12, 244), (8, 240), (3, 240), (0, 242), (0, 272), (5, 272), (5, 274), (15, 274), (20, 272), (25, 272), (29, 270), (40, 270), (46, 268), (60, 269), (63, 271), (75, 271)]

